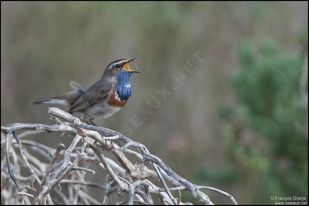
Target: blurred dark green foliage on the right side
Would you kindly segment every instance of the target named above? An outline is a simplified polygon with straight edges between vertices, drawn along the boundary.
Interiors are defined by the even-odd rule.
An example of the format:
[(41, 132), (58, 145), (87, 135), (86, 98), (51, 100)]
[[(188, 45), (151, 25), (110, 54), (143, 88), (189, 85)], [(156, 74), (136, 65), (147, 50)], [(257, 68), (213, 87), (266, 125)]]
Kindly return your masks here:
[[(239, 104), (221, 113), (229, 122), (230, 160), (239, 165), (234, 169), (254, 188), (255, 204), (272, 204), (270, 196), (307, 196), (308, 113), (299, 83), (303, 50), (284, 54), (269, 37), (246, 39), (239, 47), (241, 68), (231, 78)], [(241, 137), (244, 130), (252, 132), (249, 143)]]

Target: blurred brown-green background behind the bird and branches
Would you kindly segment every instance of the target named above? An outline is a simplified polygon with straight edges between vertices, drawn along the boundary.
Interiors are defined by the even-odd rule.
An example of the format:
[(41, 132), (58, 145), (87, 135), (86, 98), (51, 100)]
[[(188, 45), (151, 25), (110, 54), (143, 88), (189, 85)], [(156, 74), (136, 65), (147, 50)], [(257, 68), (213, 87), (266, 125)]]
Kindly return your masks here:
[[(1, 125), (54, 124), (29, 100), (138, 56), (129, 101), (96, 124), (239, 204), (308, 199), (307, 46), (308, 2), (1, 2)], [(59, 135), (33, 139), (73, 138)]]

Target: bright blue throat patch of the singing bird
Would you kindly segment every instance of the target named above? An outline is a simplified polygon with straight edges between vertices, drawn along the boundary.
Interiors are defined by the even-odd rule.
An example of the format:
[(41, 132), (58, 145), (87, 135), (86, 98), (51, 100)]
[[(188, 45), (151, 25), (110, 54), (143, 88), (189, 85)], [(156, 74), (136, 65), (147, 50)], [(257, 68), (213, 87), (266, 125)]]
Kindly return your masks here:
[(116, 90), (118, 97), (124, 101), (127, 100), (132, 94), (132, 87), (130, 83), (130, 76), (132, 72), (120, 71), (117, 75)]

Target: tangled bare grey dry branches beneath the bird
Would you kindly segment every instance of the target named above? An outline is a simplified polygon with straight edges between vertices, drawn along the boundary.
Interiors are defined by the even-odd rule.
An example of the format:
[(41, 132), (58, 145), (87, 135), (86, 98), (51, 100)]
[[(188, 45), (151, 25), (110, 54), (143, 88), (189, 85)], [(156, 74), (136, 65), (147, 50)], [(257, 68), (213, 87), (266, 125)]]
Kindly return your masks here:
[[(233, 204), (237, 204), (233, 196), (224, 191), (213, 187), (197, 186), (181, 178), (161, 159), (150, 154), (143, 144), (117, 131), (83, 124), (78, 118), (56, 107), (49, 108), (48, 112), (52, 115), (51, 119), (56, 122), (55, 125), (16, 123), (7, 127), (1, 126), (3, 132), (1, 150), (3, 153), (5, 150), (1, 162), (2, 203), (108, 204), (113, 194), (127, 193), (127, 201), (116, 204), (177, 205), (190, 204), (181, 202), (181, 191), (188, 190), (194, 197), (198, 197), (202, 204), (213, 204), (208, 196), (200, 191), (200, 189), (207, 189), (225, 195)], [(59, 118), (66, 122), (61, 122)], [(21, 129), (33, 131), (17, 135), (15, 131)], [(36, 141), (24, 139), (28, 135), (42, 131), (50, 133), (61, 131), (63, 132), (61, 136), (73, 134), (75, 137), (65, 150), (63, 150), (65, 148), (63, 144), (53, 149)], [(76, 147), (80, 140), (82, 140), (82, 147)], [(121, 146), (120, 142), (125, 144)], [(14, 150), (17, 145), (20, 155)], [(43, 155), (47, 162), (42, 162), (28, 153), (24, 148), (26, 145)], [(105, 157), (102, 147), (104, 151), (112, 152), (118, 163)], [(130, 147), (132, 149), (129, 149)], [(63, 159), (57, 162), (60, 155)], [(140, 164), (133, 165), (126, 155), (137, 158)], [(13, 160), (10, 160), (10, 157)], [(78, 163), (82, 159), (84, 165), (80, 167)], [(107, 172), (105, 184), (85, 181), (86, 174), (95, 174), (94, 170), (88, 169), (91, 163), (99, 164)], [(30, 171), (29, 177), (22, 176), (21, 165)], [(154, 170), (146, 165), (151, 165)], [(154, 181), (150, 181), (152, 178), (159, 178), (159, 184), (162, 185), (158, 183), (158, 186), (155, 185)], [(168, 188), (166, 180), (174, 187)], [(69, 197), (61, 191), (63, 184), (67, 185)], [(102, 195), (101, 202), (98, 202), (97, 197), (93, 197), (95, 195), (88, 194), (85, 186), (104, 189), (105, 194)], [(174, 190), (178, 191), (177, 198), (171, 194)], [(54, 191), (53, 195), (50, 194), (51, 191)]]

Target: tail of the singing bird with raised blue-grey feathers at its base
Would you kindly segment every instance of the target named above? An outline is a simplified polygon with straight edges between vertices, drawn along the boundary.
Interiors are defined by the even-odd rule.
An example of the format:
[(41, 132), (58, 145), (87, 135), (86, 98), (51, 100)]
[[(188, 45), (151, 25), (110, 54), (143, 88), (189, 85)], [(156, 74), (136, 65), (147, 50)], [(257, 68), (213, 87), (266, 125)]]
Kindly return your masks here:
[(74, 81), (70, 81), (70, 86), (72, 89), (74, 89), (74, 91), (57, 97), (30, 100), (30, 103), (32, 105), (55, 104), (71, 107), (71, 105), (78, 99), (78, 97), (80, 97), (85, 92), (85, 89)]

